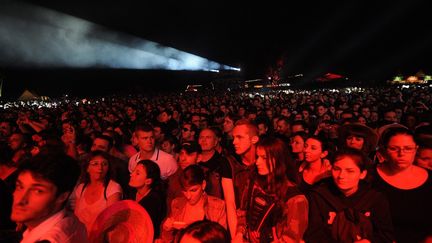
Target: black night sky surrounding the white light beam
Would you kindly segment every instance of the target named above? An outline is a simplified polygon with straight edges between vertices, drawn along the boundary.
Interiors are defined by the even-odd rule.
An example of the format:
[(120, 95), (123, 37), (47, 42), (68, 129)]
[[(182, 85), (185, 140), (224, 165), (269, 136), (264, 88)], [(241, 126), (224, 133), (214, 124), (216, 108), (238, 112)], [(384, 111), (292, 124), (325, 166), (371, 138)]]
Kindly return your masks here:
[[(280, 59), (286, 73), (310, 77), (333, 72), (353, 79), (385, 81), (398, 73), (432, 71), (432, 20), (426, 1), (259, 1), (247, 5), (220, 1), (185, 5), (178, 1), (151, 6), (128, 1), (26, 2), (240, 67), (244, 79), (263, 78)], [(164, 79), (164, 72), (155, 71), (17, 70), (3, 66), (0, 72), (13, 80), (10, 82), (25, 79), (30, 86), (35, 79), (51, 83), (59, 79), (69, 82), (68, 78), (98, 80), (88, 93), (107, 86), (100, 79), (105, 79), (105, 84)], [(190, 72), (167, 75), (177, 86), (213, 77)]]

